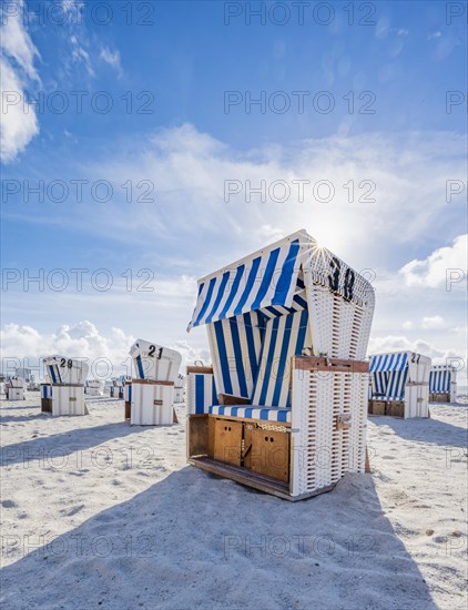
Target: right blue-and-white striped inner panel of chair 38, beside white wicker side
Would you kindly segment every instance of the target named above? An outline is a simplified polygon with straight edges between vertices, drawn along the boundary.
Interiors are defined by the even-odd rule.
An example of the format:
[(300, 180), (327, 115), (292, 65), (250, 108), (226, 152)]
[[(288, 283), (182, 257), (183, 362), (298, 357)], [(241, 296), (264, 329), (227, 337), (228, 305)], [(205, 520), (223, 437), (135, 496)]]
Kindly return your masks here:
[(291, 358), (312, 345), (308, 311), (268, 321), (252, 404), (261, 407), (291, 406)]

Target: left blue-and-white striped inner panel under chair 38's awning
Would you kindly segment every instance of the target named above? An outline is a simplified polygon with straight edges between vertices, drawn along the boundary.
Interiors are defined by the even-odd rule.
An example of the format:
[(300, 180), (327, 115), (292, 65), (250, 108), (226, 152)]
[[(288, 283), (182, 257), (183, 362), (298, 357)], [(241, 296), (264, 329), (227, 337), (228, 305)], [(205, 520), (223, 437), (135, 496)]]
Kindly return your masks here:
[(252, 312), (208, 325), (210, 350), (218, 393), (252, 397), (266, 322), (263, 314)]

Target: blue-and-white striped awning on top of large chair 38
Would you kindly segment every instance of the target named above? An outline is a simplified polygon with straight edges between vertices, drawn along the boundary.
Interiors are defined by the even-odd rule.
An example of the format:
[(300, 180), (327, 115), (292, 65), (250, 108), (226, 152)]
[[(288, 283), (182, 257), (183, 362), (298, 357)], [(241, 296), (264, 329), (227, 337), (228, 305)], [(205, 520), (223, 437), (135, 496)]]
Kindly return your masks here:
[(298, 237), (266, 247), (242, 264), (205, 277), (189, 331), (201, 324), (237, 317), (267, 307), (291, 307), (296, 286)]

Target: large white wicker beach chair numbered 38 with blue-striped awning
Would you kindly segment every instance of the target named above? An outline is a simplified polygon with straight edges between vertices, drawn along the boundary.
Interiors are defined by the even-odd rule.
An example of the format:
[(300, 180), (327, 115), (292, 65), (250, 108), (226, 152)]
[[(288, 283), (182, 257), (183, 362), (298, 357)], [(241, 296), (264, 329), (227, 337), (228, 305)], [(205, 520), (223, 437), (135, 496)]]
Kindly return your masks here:
[(363, 472), (374, 289), (298, 231), (199, 281), (187, 367), (193, 466), (297, 500)]

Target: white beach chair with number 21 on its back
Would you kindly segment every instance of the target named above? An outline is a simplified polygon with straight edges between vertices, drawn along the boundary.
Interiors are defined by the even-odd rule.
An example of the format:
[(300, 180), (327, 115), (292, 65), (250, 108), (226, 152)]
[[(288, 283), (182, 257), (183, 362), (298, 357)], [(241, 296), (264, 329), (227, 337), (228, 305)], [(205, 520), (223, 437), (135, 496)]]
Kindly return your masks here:
[(131, 385), (130, 424), (173, 424), (176, 421), (174, 384), (182, 363), (181, 354), (156, 343), (138, 339), (130, 348), (130, 355), (135, 374)]

